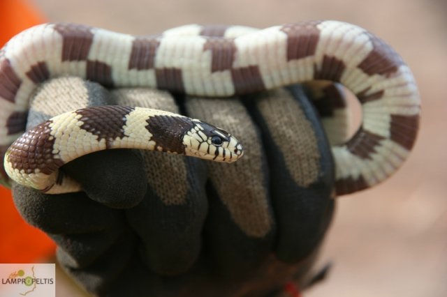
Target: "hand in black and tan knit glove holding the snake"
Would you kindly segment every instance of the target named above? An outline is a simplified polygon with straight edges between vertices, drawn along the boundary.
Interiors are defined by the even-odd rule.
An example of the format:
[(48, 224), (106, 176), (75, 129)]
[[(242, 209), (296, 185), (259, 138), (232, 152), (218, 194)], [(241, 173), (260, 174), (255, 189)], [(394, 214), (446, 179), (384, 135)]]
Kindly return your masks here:
[(233, 164), (110, 150), (65, 165), (84, 192), (44, 195), (13, 186), (27, 222), (98, 296), (272, 296), (307, 284), (334, 201), (328, 141), (299, 86), (246, 98), (108, 91), (62, 77), (43, 84), (28, 126), (85, 105), (164, 109), (203, 119), (242, 142)]

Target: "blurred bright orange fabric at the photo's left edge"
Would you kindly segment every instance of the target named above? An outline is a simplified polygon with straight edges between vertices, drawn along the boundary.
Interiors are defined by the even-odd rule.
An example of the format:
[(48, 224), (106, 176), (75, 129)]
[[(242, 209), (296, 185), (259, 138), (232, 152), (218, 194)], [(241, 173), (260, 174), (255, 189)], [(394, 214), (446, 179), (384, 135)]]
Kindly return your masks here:
[[(43, 17), (27, 1), (0, 0), (0, 47), (20, 31), (42, 22)], [(33, 263), (50, 257), (54, 250), (48, 236), (24, 222), (10, 190), (0, 185), (0, 263)]]

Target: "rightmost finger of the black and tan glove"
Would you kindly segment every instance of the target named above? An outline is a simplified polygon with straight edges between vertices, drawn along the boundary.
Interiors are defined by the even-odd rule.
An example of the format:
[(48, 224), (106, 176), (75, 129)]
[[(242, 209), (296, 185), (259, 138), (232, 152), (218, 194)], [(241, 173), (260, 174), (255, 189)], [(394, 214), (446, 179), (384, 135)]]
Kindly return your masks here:
[(294, 263), (316, 248), (332, 216), (330, 146), (300, 86), (263, 93), (249, 108), (268, 156), (277, 220), (274, 250), (282, 261)]

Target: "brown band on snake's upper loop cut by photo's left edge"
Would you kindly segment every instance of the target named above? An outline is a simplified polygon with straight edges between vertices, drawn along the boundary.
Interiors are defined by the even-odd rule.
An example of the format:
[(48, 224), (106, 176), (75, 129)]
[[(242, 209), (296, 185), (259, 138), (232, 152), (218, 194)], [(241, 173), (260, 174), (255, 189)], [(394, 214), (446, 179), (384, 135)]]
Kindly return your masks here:
[(10, 61), (0, 55), (0, 98), (15, 102), (15, 95), (21, 84), (22, 79), (15, 74)]

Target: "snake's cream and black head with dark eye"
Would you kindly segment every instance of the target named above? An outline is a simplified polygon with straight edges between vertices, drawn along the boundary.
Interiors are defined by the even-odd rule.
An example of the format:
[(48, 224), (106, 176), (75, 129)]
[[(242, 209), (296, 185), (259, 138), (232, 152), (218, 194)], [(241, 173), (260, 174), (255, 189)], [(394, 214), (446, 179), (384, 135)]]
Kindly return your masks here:
[(200, 120), (183, 137), (185, 154), (217, 162), (234, 162), (244, 154), (240, 142), (221, 128)]

